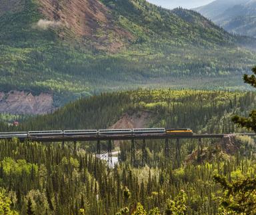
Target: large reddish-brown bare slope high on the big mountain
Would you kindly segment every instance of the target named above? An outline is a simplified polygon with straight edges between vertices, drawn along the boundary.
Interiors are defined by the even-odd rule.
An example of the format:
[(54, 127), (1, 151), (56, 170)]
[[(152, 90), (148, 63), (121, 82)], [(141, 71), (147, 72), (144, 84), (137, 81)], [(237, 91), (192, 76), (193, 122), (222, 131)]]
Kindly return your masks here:
[[(62, 23), (82, 40), (94, 41), (97, 49), (117, 51), (124, 45), (122, 39), (132, 37), (131, 33), (115, 25), (109, 9), (98, 0), (39, 1), (41, 12), (49, 21)], [(59, 32), (63, 39), (67, 37), (64, 32)]]

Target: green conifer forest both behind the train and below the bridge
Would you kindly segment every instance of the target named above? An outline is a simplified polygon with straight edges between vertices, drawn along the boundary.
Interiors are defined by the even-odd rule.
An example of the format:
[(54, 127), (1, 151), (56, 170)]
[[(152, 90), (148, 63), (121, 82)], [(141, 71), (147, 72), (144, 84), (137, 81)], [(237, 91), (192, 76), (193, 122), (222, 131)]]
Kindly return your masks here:
[[(137, 90), (80, 99), (52, 114), (29, 117), (13, 128), (108, 128), (124, 114), (148, 112), (148, 127), (189, 127), (196, 133), (248, 132), (231, 122), (247, 115), (255, 93)], [(137, 148), (141, 140), (136, 141)], [(101, 142), (102, 148), (107, 142)], [(96, 142), (0, 142), (0, 187), (19, 214), (218, 214), (228, 182), (255, 177), (255, 142), (224, 139), (146, 140), (145, 165), (131, 163), (131, 142), (113, 142), (118, 163), (95, 157)]]

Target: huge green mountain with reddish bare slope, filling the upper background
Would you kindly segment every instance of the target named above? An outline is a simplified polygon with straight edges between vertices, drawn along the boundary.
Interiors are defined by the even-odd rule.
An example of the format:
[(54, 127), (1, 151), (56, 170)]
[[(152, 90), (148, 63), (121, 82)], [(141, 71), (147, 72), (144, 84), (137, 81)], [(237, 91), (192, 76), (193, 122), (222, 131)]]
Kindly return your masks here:
[(45, 93), (51, 108), (118, 89), (237, 88), (256, 59), (239, 45), (247, 38), (197, 12), (144, 0), (0, 5), (0, 92)]

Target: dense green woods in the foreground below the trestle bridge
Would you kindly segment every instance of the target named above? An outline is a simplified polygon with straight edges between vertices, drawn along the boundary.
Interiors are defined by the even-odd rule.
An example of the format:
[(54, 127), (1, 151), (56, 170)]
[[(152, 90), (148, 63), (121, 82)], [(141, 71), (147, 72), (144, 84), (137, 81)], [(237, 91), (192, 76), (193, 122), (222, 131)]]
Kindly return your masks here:
[[(163, 156), (157, 153), (161, 146), (156, 143), (151, 141), (148, 150)], [(187, 155), (193, 146), (183, 142), (182, 153)], [(153, 159), (138, 169), (130, 166), (129, 159), (109, 168), (84, 152), (83, 144), (74, 153), (69, 144), (63, 149), (61, 144), (1, 140), (0, 186), (7, 190), (11, 208), (21, 214), (27, 212), (29, 200), (35, 214), (79, 214), (81, 209), (85, 214), (115, 214), (125, 207), (133, 212), (137, 202), (146, 211), (157, 207), (163, 214), (168, 199), (174, 199), (180, 190), (187, 196), (188, 214), (217, 214), (221, 188), (213, 182), (215, 174), (229, 181), (255, 177), (253, 140), (240, 138), (237, 146), (233, 156), (209, 147), (209, 156), (215, 157), (199, 163), (183, 160), (177, 167), (168, 160), (163, 166), (161, 160)], [(129, 199), (123, 196), (125, 187), (131, 192)]]

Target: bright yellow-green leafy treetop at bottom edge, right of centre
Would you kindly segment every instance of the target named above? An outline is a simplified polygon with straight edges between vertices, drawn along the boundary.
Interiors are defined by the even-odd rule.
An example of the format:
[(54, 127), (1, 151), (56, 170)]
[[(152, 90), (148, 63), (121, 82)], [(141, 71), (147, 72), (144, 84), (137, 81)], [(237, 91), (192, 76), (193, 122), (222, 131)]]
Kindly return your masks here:
[(183, 190), (174, 198), (174, 200), (168, 199), (167, 206), (165, 208), (166, 215), (182, 215), (186, 214), (187, 206), (185, 205), (187, 196)]

